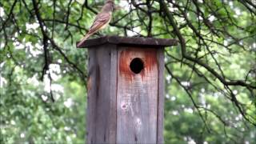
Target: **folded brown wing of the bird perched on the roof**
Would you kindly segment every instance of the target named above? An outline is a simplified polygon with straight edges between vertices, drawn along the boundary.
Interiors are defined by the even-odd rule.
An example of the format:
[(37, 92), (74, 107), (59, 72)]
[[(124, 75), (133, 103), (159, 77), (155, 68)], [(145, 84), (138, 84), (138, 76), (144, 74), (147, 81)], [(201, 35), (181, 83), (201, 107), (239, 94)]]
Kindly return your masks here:
[(109, 13), (98, 14), (94, 20), (92, 26), (90, 26), (90, 31), (88, 33), (93, 34), (97, 30), (99, 30), (102, 26), (106, 25), (107, 22), (110, 21), (111, 15)]

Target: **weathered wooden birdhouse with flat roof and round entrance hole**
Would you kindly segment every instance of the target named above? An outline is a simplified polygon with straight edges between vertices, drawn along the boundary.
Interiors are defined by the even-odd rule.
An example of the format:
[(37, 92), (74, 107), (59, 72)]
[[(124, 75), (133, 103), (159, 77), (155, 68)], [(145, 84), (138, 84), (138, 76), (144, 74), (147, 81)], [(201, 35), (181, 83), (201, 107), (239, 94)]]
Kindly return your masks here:
[(174, 39), (89, 39), (87, 143), (163, 143), (164, 47)]

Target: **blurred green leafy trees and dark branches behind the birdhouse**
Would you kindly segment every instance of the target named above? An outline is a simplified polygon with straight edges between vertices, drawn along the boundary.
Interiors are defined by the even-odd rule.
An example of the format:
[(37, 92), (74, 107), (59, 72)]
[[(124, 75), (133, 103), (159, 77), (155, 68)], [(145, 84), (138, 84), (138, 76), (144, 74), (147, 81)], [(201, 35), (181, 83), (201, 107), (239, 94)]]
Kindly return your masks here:
[[(0, 2), (0, 142), (86, 141), (87, 51), (103, 1)], [(166, 48), (166, 143), (256, 143), (255, 1), (115, 1), (102, 34)], [(98, 37), (95, 34), (93, 37)]]

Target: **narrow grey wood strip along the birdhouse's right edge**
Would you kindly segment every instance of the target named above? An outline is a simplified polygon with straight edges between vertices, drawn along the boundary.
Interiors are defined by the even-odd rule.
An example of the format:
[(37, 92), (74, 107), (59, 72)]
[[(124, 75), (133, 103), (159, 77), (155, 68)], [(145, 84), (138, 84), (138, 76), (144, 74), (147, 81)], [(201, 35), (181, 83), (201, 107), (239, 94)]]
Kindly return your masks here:
[(163, 138), (163, 130), (164, 130), (164, 68), (165, 68), (165, 55), (164, 55), (164, 48), (158, 49), (158, 142), (157, 143), (164, 143)]

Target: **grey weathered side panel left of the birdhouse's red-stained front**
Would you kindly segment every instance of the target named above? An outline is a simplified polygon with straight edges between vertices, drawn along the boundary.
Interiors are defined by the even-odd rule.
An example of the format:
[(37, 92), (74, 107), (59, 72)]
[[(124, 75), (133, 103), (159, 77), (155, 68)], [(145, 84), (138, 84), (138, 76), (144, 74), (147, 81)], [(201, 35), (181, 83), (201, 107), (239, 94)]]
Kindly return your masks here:
[(88, 86), (89, 99), (92, 100), (88, 101), (87, 117), (88, 124), (92, 126), (88, 126), (87, 143), (116, 141), (116, 53), (112, 45), (100, 46), (95, 51), (89, 50), (90, 57), (93, 58), (90, 58), (89, 66), (94, 67), (94, 70), (91, 70), (91, 86)]

